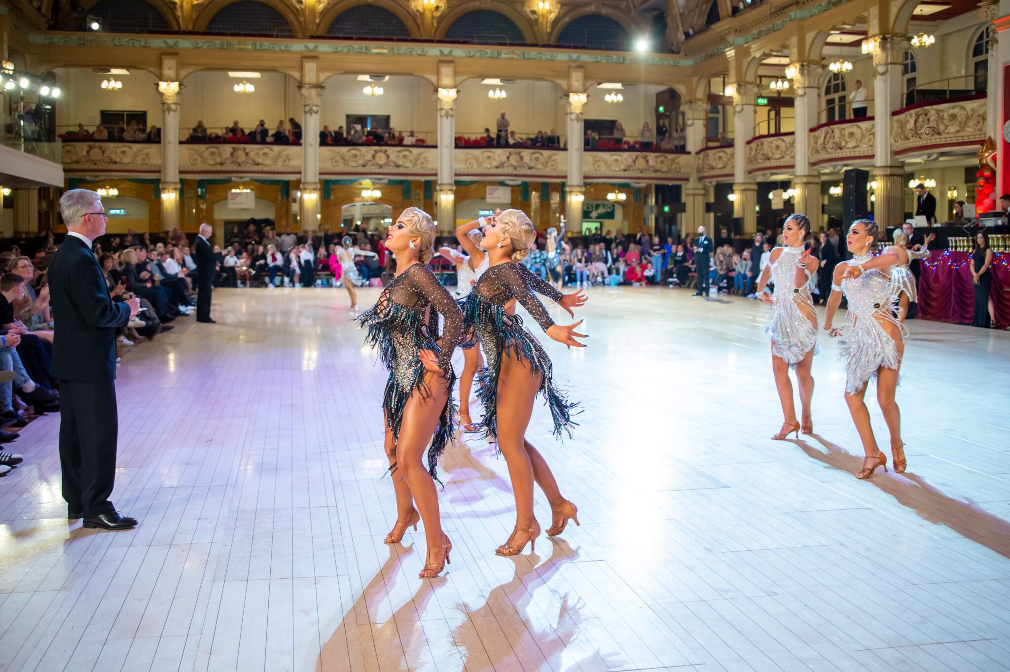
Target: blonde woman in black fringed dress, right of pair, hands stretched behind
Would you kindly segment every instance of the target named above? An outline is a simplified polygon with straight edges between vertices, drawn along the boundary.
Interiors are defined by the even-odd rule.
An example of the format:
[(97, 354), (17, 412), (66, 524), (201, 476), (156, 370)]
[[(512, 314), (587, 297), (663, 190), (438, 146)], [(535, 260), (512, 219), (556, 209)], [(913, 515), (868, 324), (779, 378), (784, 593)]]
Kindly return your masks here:
[(515, 495), (515, 530), (498, 547), (499, 555), (521, 553), (527, 543), (532, 549), (540, 534), (533, 516), (534, 481), (553, 514), (548, 535), (560, 535), (570, 520), (579, 525), (578, 508), (562, 496), (546, 460), (524, 437), (538, 391), (543, 393), (550, 408), (554, 434), (562, 430), (571, 433), (575, 405), (558, 388), (550, 358), (533, 335), (523, 329), (522, 320), (515, 315), (515, 303), (521, 303), (550, 338), (568, 346), (584, 347), (576, 340), (585, 338), (576, 332), (582, 321), (569, 326), (554, 324), (533, 292), (558, 302), (573, 317), (572, 309), (585, 304), (586, 296), (581, 292), (563, 295), (519, 263), (535, 236), (533, 224), (519, 210), (506, 210), (490, 220), (481, 241), (490, 267), (467, 298), (464, 316), (464, 329), (475, 332), (488, 358), (481, 371), (479, 393), (485, 415), (478, 427), (486, 436), (497, 437)]

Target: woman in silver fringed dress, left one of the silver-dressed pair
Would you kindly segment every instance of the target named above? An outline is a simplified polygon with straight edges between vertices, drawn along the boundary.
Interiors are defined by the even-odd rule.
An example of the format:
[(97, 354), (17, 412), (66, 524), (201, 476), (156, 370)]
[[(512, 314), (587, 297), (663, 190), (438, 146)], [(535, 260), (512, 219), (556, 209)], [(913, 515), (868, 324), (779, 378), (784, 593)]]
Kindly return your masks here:
[[(814, 395), (814, 378), (810, 374), (817, 351), (817, 312), (810, 296), (810, 276), (817, 271), (820, 263), (812, 258), (806, 243), (810, 239), (810, 220), (806, 215), (790, 215), (783, 225), (783, 247), (776, 247), (769, 257), (769, 264), (758, 281), (758, 296), (772, 304), (772, 313), (765, 320), (765, 333), (772, 338), (772, 372), (775, 386), (782, 403), (785, 422), (782, 429), (773, 436), (781, 441), (790, 432), (799, 436), (813, 434), (810, 401)], [(769, 278), (775, 281), (775, 294), (765, 292)], [(789, 380), (789, 369), (796, 370), (796, 381), (800, 387), (800, 407), (803, 422), (796, 422), (796, 406), (793, 403), (793, 383)]]

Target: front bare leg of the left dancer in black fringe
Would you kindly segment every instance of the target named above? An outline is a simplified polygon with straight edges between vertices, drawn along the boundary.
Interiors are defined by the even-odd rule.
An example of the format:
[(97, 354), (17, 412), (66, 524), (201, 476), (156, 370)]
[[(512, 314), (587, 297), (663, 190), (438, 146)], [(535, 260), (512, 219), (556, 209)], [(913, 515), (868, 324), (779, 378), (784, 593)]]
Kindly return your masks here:
[[(424, 521), (424, 537), (429, 549), (438, 549), (445, 543), (445, 535), (441, 529), (438, 516), (438, 491), (423, 463), (424, 452), (431, 437), (438, 427), (442, 409), (448, 399), (448, 381), (436, 373), (426, 372), (425, 383), (430, 389), (430, 396), (423, 399), (421, 393), (414, 390), (407, 400), (400, 423), (400, 440), (396, 446), (397, 472), (410, 488), (421, 520)], [(433, 551), (429, 561), (438, 564), (444, 553)]]

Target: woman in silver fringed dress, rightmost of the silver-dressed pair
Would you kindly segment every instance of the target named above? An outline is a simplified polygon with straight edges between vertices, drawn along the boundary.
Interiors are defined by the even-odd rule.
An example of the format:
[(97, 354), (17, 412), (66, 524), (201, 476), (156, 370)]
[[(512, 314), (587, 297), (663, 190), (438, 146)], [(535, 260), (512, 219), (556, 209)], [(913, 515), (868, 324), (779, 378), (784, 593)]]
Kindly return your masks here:
[[(845, 244), (854, 256), (834, 269), (831, 298), (824, 318), (824, 330), (831, 338), (845, 331), (840, 348), (845, 361), (845, 403), (866, 453), (856, 478), (870, 478), (877, 467), (887, 471), (887, 456), (877, 446), (870, 411), (863, 401), (872, 378), (877, 378), (877, 404), (891, 433), (894, 470), (901, 473), (907, 465), (905, 444), (901, 440), (901, 412), (895, 401), (906, 332), (904, 325), (894, 317), (898, 298), (890, 272), (901, 258), (895, 252), (875, 257), (877, 236), (876, 222), (869, 219), (852, 222)], [(837, 329), (831, 326), (831, 320), (841, 303), (842, 293), (848, 300), (848, 314), (842, 329)]]

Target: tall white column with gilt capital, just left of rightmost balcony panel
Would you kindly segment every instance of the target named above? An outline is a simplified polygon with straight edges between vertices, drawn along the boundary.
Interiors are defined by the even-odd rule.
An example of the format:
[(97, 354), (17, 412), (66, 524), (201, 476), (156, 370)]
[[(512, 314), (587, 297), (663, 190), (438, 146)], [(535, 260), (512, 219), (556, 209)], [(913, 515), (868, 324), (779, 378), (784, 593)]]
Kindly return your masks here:
[(909, 48), (904, 35), (868, 38), (874, 58), (874, 219), (883, 229), (905, 218), (905, 169), (891, 145), (891, 113), (901, 108), (902, 66)]

